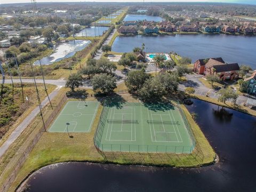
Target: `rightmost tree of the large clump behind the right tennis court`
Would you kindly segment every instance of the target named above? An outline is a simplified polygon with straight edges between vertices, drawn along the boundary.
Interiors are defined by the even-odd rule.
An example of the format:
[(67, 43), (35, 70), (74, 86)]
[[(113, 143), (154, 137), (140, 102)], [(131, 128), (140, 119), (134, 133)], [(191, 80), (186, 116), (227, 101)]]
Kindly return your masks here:
[(178, 77), (173, 75), (173, 74), (169, 74), (169, 73), (165, 73), (165, 74), (159, 74), (156, 77), (159, 79), (159, 81), (161, 82), (161, 85), (165, 87), (165, 91), (168, 91), (170, 93), (178, 91)]

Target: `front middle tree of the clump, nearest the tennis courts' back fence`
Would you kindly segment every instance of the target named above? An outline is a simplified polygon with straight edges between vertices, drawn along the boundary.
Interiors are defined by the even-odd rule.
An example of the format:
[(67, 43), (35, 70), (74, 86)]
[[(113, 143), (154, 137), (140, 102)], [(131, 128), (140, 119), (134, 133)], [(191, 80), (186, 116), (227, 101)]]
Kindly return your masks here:
[(148, 79), (139, 90), (139, 95), (142, 100), (156, 101), (162, 99), (163, 95), (166, 94), (165, 87), (161, 84), (159, 78)]

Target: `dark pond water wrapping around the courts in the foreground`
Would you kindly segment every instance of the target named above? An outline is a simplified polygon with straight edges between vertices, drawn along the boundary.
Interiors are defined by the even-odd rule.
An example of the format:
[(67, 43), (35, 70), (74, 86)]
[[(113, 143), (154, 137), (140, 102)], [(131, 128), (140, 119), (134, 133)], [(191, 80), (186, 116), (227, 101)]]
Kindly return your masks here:
[(187, 106), (220, 157), (198, 169), (61, 163), (27, 180), (41, 191), (256, 191), (256, 117), (193, 100)]

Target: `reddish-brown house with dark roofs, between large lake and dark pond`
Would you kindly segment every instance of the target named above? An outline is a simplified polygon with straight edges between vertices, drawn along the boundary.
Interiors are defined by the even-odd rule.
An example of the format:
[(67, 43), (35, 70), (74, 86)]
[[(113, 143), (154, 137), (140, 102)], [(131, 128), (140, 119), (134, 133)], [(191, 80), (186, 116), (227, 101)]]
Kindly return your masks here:
[(221, 80), (238, 78), (239, 66), (237, 63), (225, 63), (222, 58), (199, 59), (194, 63), (197, 74), (218, 75)]

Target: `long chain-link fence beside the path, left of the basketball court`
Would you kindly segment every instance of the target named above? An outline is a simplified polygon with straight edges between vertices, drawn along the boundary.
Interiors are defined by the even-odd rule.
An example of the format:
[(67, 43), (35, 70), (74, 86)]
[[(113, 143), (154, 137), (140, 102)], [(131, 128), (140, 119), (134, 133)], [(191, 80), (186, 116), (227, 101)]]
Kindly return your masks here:
[[(58, 99), (59, 100), (59, 99)], [(58, 103), (58, 105), (53, 109), (51, 115), (45, 118), (45, 127), (49, 127), (53, 119), (59, 114), (60, 109), (62, 108), (63, 104), (67, 101), (66, 95), (63, 95)], [(23, 145), (19, 148), (16, 154), (22, 154), (21, 156), (15, 155), (9, 164), (6, 167), (11, 167), (11, 171), (9, 173), (2, 173), (1, 177), (6, 177), (5, 181), (0, 183), (0, 191), (7, 191), (12, 182), (15, 180), (19, 170), (21, 169), (22, 165), (25, 163), (28, 155), (30, 154), (31, 150), (34, 148), (38, 140), (41, 138), (43, 132), (45, 132), (44, 126), (40, 129), (36, 130), (35, 135), (31, 134), (31, 137), (27, 138), (26, 141), (23, 142)], [(4, 175), (3, 175), (4, 174)]]

